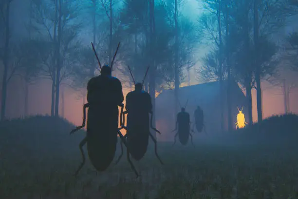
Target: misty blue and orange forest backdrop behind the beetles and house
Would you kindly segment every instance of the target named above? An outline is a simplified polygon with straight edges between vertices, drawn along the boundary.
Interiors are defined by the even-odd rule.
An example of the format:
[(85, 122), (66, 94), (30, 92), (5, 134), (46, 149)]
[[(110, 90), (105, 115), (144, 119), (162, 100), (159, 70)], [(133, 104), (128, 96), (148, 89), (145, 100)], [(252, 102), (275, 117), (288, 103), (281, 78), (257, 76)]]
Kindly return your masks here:
[(229, 80), (243, 89), (250, 121), (298, 112), (297, 13), (297, 0), (1, 0), (1, 119), (80, 123), (87, 82), (99, 74), (91, 42), (110, 64), (119, 41), (113, 76), (125, 94), (127, 65), (136, 81), (150, 65), (153, 105), (164, 89)]

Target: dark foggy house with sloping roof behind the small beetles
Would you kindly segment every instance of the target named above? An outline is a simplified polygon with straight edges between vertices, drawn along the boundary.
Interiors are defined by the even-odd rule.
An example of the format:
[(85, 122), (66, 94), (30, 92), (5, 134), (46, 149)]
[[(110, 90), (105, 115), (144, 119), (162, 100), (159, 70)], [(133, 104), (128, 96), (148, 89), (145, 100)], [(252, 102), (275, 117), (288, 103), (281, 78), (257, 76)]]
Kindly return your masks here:
[[(179, 88), (179, 101), (181, 106), (185, 106), (186, 112), (191, 116), (191, 122), (194, 121), (194, 110), (199, 105), (204, 111), (205, 126), (207, 133), (221, 132), (221, 115), (220, 115), (220, 100), (223, 100), (223, 117), (224, 117), (224, 130), (227, 130), (227, 81), (223, 80), (223, 96), (220, 96), (220, 83), (219, 81), (196, 84)], [(245, 115), (246, 122), (248, 120), (247, 102), (241, 88), (236, 82), (231, 83), (231, 114), (233, 128), (236, 127), (234, 123), (237, 120), (238, 109)], [(164, 90), (157, 96), (155, 101), (155, 114), (156, 114), (156, 127), (162, 132), (158, 135), (159, 140), (172, 140), (175, 128), (176, 115), (175, 115), (175, 98), (174, 90)], [(180, 111), (180, 107), (178, 107)], [(193, 124), (191, 124), (192, 127)]]

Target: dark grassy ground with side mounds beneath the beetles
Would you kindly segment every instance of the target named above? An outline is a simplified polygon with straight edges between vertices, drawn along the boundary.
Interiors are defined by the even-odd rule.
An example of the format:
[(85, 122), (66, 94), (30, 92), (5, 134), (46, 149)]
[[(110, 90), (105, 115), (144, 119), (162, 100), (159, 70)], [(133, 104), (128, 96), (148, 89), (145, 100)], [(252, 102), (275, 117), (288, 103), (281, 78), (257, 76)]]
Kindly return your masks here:
[[(49, 123), (56, 125), (49, 127)], [(37, 124), (39, 128), (34, 127)], [(200, 135), (202, 141), (197, 141), (195, 148), (190, 144), (172, 147), (171, 143), (159, 143), (163, 166), (150, 147), (144, 159), (134, 161), (141, 174), (138, 179), (125, 156), (102, 173), (87, 160), (75, 178), (73, 174), (81, 161), (77, 145), (83, 136), (77, 133), (70, 137), (71, 124), (37, 117), (1, 123), (0, 127), (1, 199), (298, 198), (295, 136), (291, 143), (281, 143), (274, 142), (280, 140), (277, 137), (255, 141), (257, 130), (250, 142), (248, 130), (241, 132), (243, 136), (229, 134), (224, 139)], [(30, 132), (24, 130), (28, 128)], [(264, 127), (258, 129), (263, 131)], [(298, 132), (295, 126), (290, 129)]]

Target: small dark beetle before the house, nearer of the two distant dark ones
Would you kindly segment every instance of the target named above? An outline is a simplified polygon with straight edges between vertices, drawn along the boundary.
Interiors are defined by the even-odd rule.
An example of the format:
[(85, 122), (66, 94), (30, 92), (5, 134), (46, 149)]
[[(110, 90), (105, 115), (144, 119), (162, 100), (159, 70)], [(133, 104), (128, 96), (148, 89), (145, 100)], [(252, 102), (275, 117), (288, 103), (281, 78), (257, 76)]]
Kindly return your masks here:
[[(188, 100), (186, 101), (187, 105)], [(174, 144), (176, 143), (176, 137), (177, 135), (179, 136), (179, 141), (182, 145), (186, 145), (188, 142), (188, 138), (190, 136), (191, 138), (191, 144), (193, 145), (192, 142), (192, 135), (190, 134), (190, 117), (189, 113), (185, 111), (186, 105), (184, 107), (181, 107), (181, 104), (179, 102), (179, 106), (181, 107), (181, 112), (177, 114), (177, 120), (176, 120), (176, 128), (172, 131), (177, 130), (177, 124), (178, 124), (178, 132), (174, 136)], [(194, 145), (193, 145), (194, 147)]]

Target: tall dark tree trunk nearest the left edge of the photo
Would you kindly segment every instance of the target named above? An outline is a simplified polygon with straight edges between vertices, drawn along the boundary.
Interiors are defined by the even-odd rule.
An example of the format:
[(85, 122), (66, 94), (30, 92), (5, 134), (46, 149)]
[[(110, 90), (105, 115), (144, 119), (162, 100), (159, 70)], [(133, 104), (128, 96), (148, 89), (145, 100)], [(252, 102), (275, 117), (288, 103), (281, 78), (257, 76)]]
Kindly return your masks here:
[[(5, 7), (6, 6), (6, 7)], [(3, 54), (3, 76), (2, 76), (2, 93), (1, 93), (1, 120), (5, 119), (5, 109), (6, 109), (6, 97), (7, 97), (7, 76), (8, 76), (8, 61), (9, 61), (9, 39), (10, 39), (10, 27), (9, 27), (9, 10), (10, 2), (4, 3), (3, 12), (5, 15), (4, 20), (4, 29), (5, 29), (5, 38), (4, 38), (4, 54)]]

